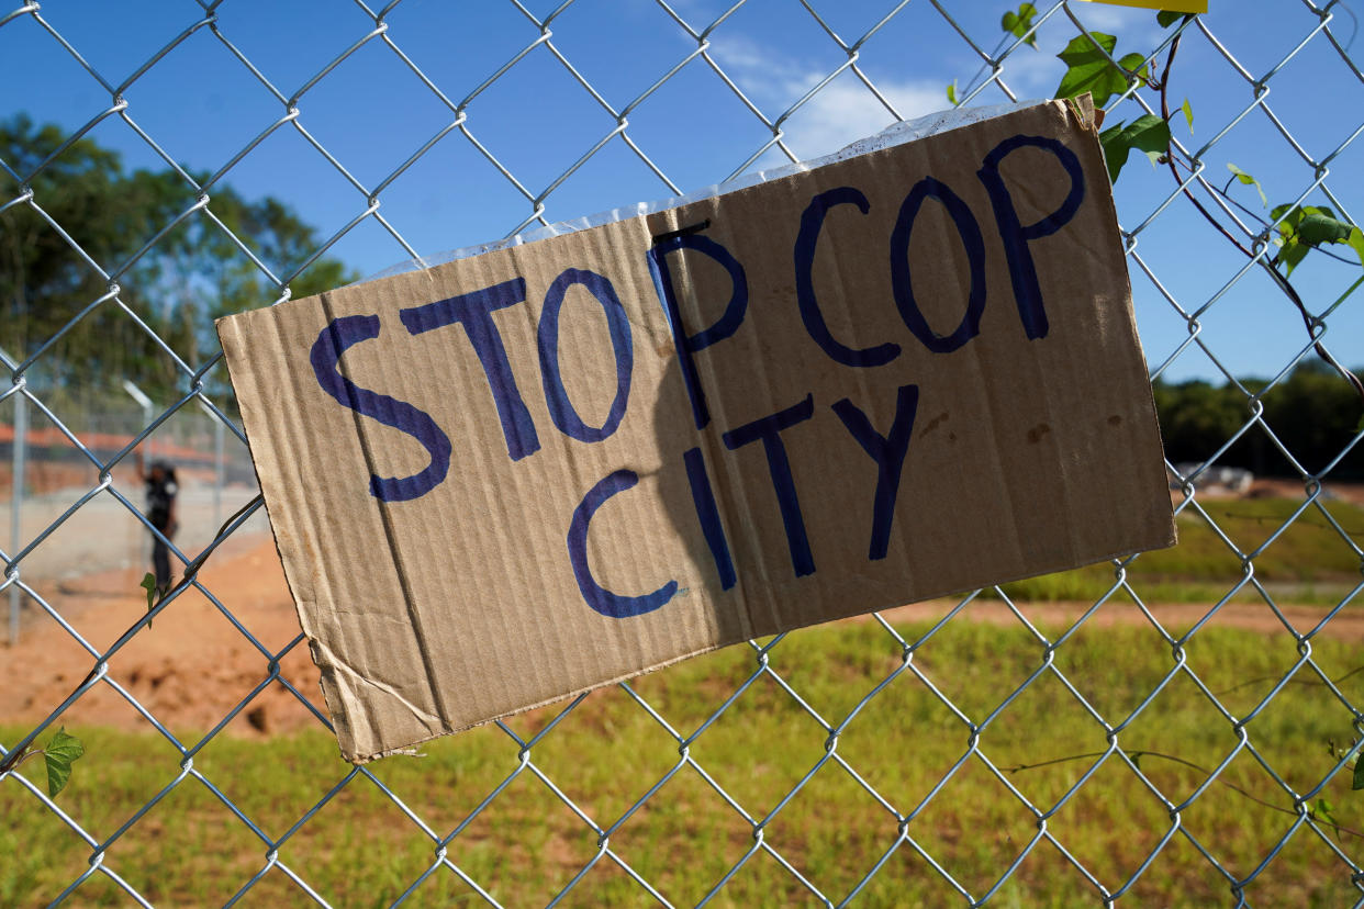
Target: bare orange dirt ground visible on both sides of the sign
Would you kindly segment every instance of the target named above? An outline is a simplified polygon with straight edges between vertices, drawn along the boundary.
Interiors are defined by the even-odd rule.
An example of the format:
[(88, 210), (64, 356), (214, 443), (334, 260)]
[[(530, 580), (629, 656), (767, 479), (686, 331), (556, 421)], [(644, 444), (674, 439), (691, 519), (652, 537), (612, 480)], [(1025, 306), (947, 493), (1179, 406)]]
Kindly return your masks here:
[[(307, 643), (299, 641), (299, 620), (289, 598), (274, 542), (251, 534), (231, 541), (205, 566), (202, 585), (269, 654), (293, 646), (280, 660), (280, 673), (325, 711), (318, 671)], [(146, 609), (146, 598), (134, 568), (108, 570), (78, 579), (40, 585), (48, 602), (97, 651), (105, 650)], [(955, 601), (929, 601), (883, 613), (891, 623), (936, 620)], [(1090, 604), (1020, 604), (1034, 624), (1064, 628)], [(1204, 615), (1207, 606), (1155, 605), (1157, 619), (1180, 634)], [(1300, 630), (1315, 626), (1324, 606), (1284, 606)], [(866, 621), (869, 617), (850, 621)], [(1012, 626), (1018, 619), (998, 601), (967, 605), (953, 621), (988, 621)], [(1105, 605), (1088, 623), (1095, 627), (1144, 623), (1132, 605)], [(1266, 634), (1281, 632), (1274, 615), (1258, 604), (1228, 604), (1215, 619), (1219, 627), (1240, 627)], [(1329, 634), (1364, 641), (1364, 613), (1344, 611), (1331, 620)], [(19, 646), (0, 647), (0, 722), (38, 722), (79, 684), (93, 657), (50, 616), (26, 611)], [(128, 691), (173, 732), (211, 729), (256, 685), (270, 676), (270, 657), (254, 646), (201, 591), (191, 590), (170, 602), (150, 630), (139, 632), (110, 661), (108, 677)], [(146, 720), (110, 684), (98, 684), (63, 717), (70, 724), (97, 724), (147, 729)], [(315, 722), (308, 707), (281, 684), (271, 681), (231, 722), (229, 735), (261, 736), (288, 732)]]

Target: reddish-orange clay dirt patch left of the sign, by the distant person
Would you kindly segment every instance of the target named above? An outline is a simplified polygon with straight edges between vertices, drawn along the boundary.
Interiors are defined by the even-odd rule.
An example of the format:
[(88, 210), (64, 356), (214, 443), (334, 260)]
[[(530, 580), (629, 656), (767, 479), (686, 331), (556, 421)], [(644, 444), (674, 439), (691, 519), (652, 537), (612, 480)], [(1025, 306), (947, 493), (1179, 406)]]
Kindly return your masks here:
[[(258, 537), (259, 540), (259, 537)], [(284, 571), (269, 538), (236, 553), (218, 553), (199, 572), (203, 587), (270, 654), (300, 636)], [(40, 593), (98, 651), (146, 612), (138, 586), (142, 570), (105, 571), (78, 581), (40, 585)], [(31, 602), (29, 604), (33, 605)], [(0, 647), (0, 722), (41, 721), (85, 679), (94, 658), (46, 613), (26, 609), (19, 646)], [(280, 660), (280, 673), (326, 711), (307, 642)], [(258, 650), (199, 590), (165, 606), (109, 660), (108, 677), (127, 690), (173, 732), (206, 732), (270, 676)], [(146, 720), (110, 684), (100, 683), (74, 703), (61, 722), (147, 729)], [(307, 706), (271, 681), (229, 729), (261, 735), (315, 724)]]

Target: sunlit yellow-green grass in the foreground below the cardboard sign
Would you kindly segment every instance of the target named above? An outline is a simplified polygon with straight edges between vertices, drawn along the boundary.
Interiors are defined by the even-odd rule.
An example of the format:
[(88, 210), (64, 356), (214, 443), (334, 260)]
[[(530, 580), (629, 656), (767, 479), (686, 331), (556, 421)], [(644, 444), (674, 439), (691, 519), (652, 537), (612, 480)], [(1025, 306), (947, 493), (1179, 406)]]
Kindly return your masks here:
[[(1018, 627), (970, 621), (970, 611), (915, 651), (913, 665), (944, 695), (983, 722), (1043, 662), (1043, 646)], [(926, 627), (904, 627), (911, 641)], [(1210, 626), (1188, 645), (1187, 665), (1233, 714), (1248, 715), (1299, 658), (1292, 639)], [(1364, 662), (1357, 646), (1322, 639), (1314, 660), (1331, 677)], [(771, 653), (771, 666), (812, 709), (836, 722), (902, 665), (900, 649), (874, 623), (795, 632)], [(1112, 724), (1123, 722), (1174, 666), (1170, 649), (1150, 628), (1082, 627), (1056, 653), (1056, 669)], [(634, 683), (636, 691), (677, 729), (697, 729), (756, 666), (747, 646), (692, 660)], [(1305, 673), (1297, 676), (1308, 680)], [(1364, 673), (1339, 683), (1364, 702)], [(543, 729), (555, 710), (509, 721), (522, 737)], [(1320, 684), (1286, 684), (1247, 725), (1258, 755), (1297, 792), (1333, 766), (1327, 741), (1350, 740), (1352, 714)], [(12, 743), (23, 730), (0, 726)], [(97, 839), (108, 838), (162, 788), (170, 792), (110, 848), (108, 867), (157, 905), (221, 905), (266, 864), (267, 846), (195, 777), (180, 778), (179, 756), (154, 733), (74, 729), (86, 756), (59, 799), (63, 811)], [(190, 733), (187, 741), (195, 741)], [(772, 811), (825, 755), (825, 733), (771, 677), (757, 679), (690, 747), (690, 755), (749, 812)], [(896, 810), (913, 812), (966, 754), (970, 730), (911, 672), (866, 703), (837, 739), (837, 754)], [(1118, 741), (1215, 767), (1237, 747), (1232, 725), (1184, 673), (1176, 673)], [(1050, 672), (1000, 711), (979, 733), (981, 751), (1000, 769), (1103, 751), (1105, 729)], [(389, 786), (441, 835), (509, 773), (516, 744), (496, 728), (453, 736), (423, 748), (423, 758), (372, 765)], [(591, 695), (531, 751), (535, 767), (588, 815), (619, 818), (679, 760), (678, 744), (621, 690)], [(23, 773), (41, 778), (41, 762)], [(1094, 759), (1005, 773), (1041, 811), (1050, 812)], [(218, 786), (271, 839), (285, 835), (352, 771), (323, 732), (271, 740), (220, 736), (195, 756), (195, 773)], [(1172, 801), (1188, 799), (1204, 773), (1147, 755), (1140, 770)], [(1292, 799), (1241, 750), (1221, 781), (1275, 807)], [(1364, 831), (1364, 793), (1341, 773), (1322, 793), (1337, 820)], [(0, 782), (0, 905), (45, 905), (89, 865), (90, 849), (14, 780)], [(1222, 867), (1249, 875), (1293, 816), (1210, 785), (1184, 810), (1183, 830)], [(1117, 759), (1049, 815), (1048, 831), (1110, 890), (1120, 887), (1170, 830), (1166, 807)], [(1038, 834), (1034, 815), (977, 756), (966, 759), (907, 833), (975, 897)], [(836, 901), (896, 842), (896, 819), (835, 762), (765, 825), (764, 839)], [(675, 905), (692, 905), (753, 846), (753, 830), (692, 767), (682, 767), (610, 838), (610, 848)], [(1364, 838), (1337, 844), (1364, 860)], [(370, 780), (352, 780), (280, 846), (278, 860), (334, 906), (381, 906), (432, 863), (432, 842)], [(449, 859), (503, 905), (543, 905), (596, 854), (596, 834), (528, 769), (450, 844)], [(1248, 887), (1255, 905), (1338, 906), (1359, 893), (1349, 867), (1309, 827)], [(937, 906), (964, 901), (907, 844), (891, 854), (857, 905)], [(1049, 842), (1039, 842), (992, 905), (1094, 906), (1099, 899)], [(1184, 834), (1176, 833), (1120, 905), (1230, 905), (1226, 880)], [(94, 875), (65, 904), (113, 906), (128, 901)], [(239, 905), (311, 905), (277, 867)], [(438, 869), (405, 904), (476, 905), (477, 897)], [(754, 854), (712, 905), (810, 905), (809, 893), (767, 853)], [(649, 905), (610, 859), (602, 859), (565, 905)]]

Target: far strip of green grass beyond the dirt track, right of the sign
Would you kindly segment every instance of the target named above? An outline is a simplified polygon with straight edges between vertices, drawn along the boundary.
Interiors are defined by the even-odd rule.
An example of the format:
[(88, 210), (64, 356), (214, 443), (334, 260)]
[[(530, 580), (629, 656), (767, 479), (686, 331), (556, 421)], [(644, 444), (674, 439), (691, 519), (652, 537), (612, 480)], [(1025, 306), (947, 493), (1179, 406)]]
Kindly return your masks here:
[[(1241, 499), (1200, 504), (1207, 518), (1194, 508), (1180, 512), (1178, 545), (1143, 553), (1128, 567), (1128, 583), (1144, 601), (1213, 604), (1241, 581), (1241, 560), (1209, 523), (1209, 518), (1241, 552), (1249, 555), (1264, 546), (1254, 556), (1255, 576), (1275, 600), (1337, 604), (1361, 581), (1360, 557), (1315, 506), (1309, 506), (1266, 546), (1266, 541), (1284, 527), (1301, 502)], [(1364, 508), (1345, 502), (1327, 502), (1324, 507), (1354, 545), (1364, 546)], [(1019, 600), (1094, 601), (1113, 582), (1113, 567), (1099, 564), (1007, 583), (1003, 590)], [(1251, 585), (1237, 591), (1233, 600), (1262, 601)]]

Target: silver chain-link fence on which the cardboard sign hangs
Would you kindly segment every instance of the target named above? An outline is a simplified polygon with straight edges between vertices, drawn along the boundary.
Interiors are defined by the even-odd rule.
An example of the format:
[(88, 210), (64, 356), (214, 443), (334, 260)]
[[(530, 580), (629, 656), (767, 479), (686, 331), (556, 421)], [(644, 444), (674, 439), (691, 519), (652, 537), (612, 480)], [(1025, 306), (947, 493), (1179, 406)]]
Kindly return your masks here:
[[(61, 726), (86, 748), (56, 799), (42, 759), (0, 775), (0, 902), (1364, 904), (1364, 497), (1337, 482), (1364, 424), (1300, 458), (1266, 417), (1305, 409), (1285, 403), (1304, 364), (1364, 360), (1353, 240), (1294, 233), (1312, 214), (1352, 225), (1361, 202), (1345, 3), (1213, 0), (1209, 16), (1116, 26), (1080, 1), (510, 0), (483, 19), (419, 0), (112, 5), (0, 15), (0, 59), (79, 86), (0, 75), (18, 109), (67, 124), (50, 154), (0, 159), (0, 215), (22, 213), (97, 285), (42, 331), (0, 333), (18, 639), (0, 651), (0, 751), (8, 767)], [(1046, 94), (1052, 52), (1086, 30), (1117, 33), (1080, 48), (1123, 63), (1110, 123), (1176, 124), (1169, 153), (1117, 185), (1153, 379), (1213, 378), (1234, 405), (1172, 454), (1174, 555), (752, 642), (421, 759), (337, 759), (221, 354), (130, 296), (139, 277), (146, 298), (165, 286), (139, 264), (199, 230), (258, 282), (241, 304), (267, 305), (329, 256), (376, 270), (827, 153), (949, 97)], [(1196, 78), (1178, 83), (1181, 67)], [(143, 113), (149, 84), (169, 94)], [(254, 125), (201, 154), (194, 117), (225, 105)], [(79, 179), (64, 155), (113, 129), (176, 189), (158, 221), (119, 225), (134, 236), (117, 258), (86, 240), (100, 204), (52, 214)], [(326, 196), (308, 209), (321, 234), (286, 252), (247, 236), (225, 192), (262, 173), (297, 184), (295, 204)], [(441, 206), (447, 230), (427, 236), (417, 213)], [(10, 230), (0, 255), (26, 241)], [(1346, 262), (1290, 285), (1294, 243)], [(106, 348), (150, 345), (169, 397), (91, 413), (130, 378), (74, 343), (97, 319), (131, 333)], [(105, 403), (82, 407), (82, 382)], [(1222, 482), (1252, 437), (1286, 478)], [(202, 566), (151, 620), (138, 582), (154, 531), (131, 472), (149, 446), (187, 477), (173, 557)]]

